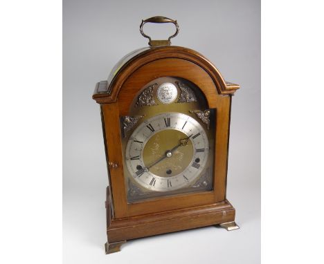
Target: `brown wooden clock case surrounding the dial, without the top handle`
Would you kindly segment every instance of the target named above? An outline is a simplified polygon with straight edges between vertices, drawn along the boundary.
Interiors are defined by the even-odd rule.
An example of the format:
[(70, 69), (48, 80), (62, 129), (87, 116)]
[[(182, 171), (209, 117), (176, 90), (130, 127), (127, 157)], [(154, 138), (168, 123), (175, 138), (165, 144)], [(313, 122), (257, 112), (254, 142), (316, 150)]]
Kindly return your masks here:
[[(109, 170), (106, 253), (118, 252), (120, 245), (134, 238), (219, 224), (228, 230), (235, 229), (235, 209), (226, 199), (226, 178), (231, 95), (240, 86), (226, 82), (217, 68), (195, 50), (161, 46), (134, 54), (124, 60), (108, 81), (99, 82), (93, 94), (100, 104)], [(119, 118), (128, 114), (139, 88), (165, 76), (181, 77), (196, 84), (209, 109), (217, 109), (213, 191), (128, 203)]]

